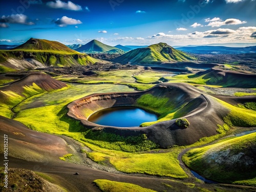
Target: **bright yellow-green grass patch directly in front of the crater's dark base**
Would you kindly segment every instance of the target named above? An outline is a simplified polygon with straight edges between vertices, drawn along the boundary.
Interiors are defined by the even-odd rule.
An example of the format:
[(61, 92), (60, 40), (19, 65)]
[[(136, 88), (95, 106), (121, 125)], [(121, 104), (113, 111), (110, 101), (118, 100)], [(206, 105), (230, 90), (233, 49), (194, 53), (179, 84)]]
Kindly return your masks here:
[(103, 164), (109, 161), (117, 170), (124, 173), (140, 173), (180, 179), (188, 177), (178, 161), (182, 147), (171, 148), (162, 153), (157, 153), (157, 151), (126, 153), (106, 150), (89, 143), (87, 146), (93, 150), (93, 152), (87, 153), (89, 158)]

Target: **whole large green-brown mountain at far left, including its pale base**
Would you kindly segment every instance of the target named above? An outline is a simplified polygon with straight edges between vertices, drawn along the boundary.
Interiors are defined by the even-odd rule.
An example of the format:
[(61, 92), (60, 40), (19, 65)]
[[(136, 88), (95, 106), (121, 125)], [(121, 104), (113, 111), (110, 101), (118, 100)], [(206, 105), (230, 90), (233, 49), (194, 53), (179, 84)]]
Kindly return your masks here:
[(30, 38), (11, 50), (0, 51), (0, 71), (44, 68), (49, 66), (93, 65), (97, 59), (79, 53), (57, 41)]

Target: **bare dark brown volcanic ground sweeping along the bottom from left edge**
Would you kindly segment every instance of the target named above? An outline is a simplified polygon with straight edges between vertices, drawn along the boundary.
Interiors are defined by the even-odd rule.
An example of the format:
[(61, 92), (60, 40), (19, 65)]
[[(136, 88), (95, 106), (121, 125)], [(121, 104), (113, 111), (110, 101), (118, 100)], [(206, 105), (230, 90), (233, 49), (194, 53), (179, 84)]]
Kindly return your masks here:
[[(100, 191), (92, 183), (95, 179), (108, 179), (112, 181), (128, 182), (151, 188), (156, 191), (199, 191), (196, 187), (214, 190), (219, 188), (225, 191), (253, 191), (254, 187), (219, 184), (195, 184), (195, 188), (189, 188), (182, 182), (166, 180), (158, 177), (138, 177), (129, 174), (119, 175), (89, 168), (87, 166), (68, 163), (58, 157), (69, 151), (65, 140), (45, 133), (38, 133), (27, 129), (25, 125), (15, 120), (0, 116), (0, 138), (3, 146), (4, 134), (8, 135), (9, 167), (25, 168), (36, 172), (46, 173), (53, 178), (54, 184), (66, 188), (68, 191)], [(18, 157), (20, 152), (29, 153), (28, 156)], [(42, 157), (38, 159), (38, 155)], [(1, 151), (3, 157), (3, 151)], [(13, 172), (14, 170), (12, 170)], [(18, 171), (18, 170), (17, 170)], [(25, 170), (22, 170), (25, 172)], [(74, 175), (76, 172), (79, 175)], [(31, 174), (31, 172), (27, 172)], [(191, 180), (193, 181), (193, 180)], [(173, 188), (165, 184), (172, 185)], [(4, 190), (4, 191), (12, 191)]]

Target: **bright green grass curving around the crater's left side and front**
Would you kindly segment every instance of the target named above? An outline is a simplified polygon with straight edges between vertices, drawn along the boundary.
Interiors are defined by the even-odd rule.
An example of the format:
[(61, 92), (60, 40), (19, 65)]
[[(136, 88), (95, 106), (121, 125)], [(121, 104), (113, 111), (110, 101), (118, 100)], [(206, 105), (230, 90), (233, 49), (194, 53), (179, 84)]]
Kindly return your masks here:
[[(174, 148), (160, 154), (144, 154), (143, 152), (127, 153), (106, 150), (86, 142), (84, 135), (88, 130), (84, 129), (79, 121), (66, 116), (66, 105), (82, 96), (90, 95), (95, 92), (125, 91), (131, 90), (126, 86), (99, 84), (97, 86), (77, 85), (66, 90), (44, 93), (30, 97), (17, 105), (15, 108), (15, 112), (17, 112), (15, 120), (39, 132), (66, 135), (76, 139), (92, 148), (93, 152), (88, 153), (90, 158), (100, 163), (108, 161), (123, 172), (187, 178), (187, 175), (180, 167), (177, 160), (180, 149)], [(34, 106), (33, 103), (40, 104)], [(40, 119), (40, 121), (38, 121), (38, 119)], [(108, 143), (101, 143), (101, 145), (103, 144)], [(120, 143), (117, 143), (117, 145), (119, 144)], [(127, 169), (127, 167), (130, 167), (130, 169)]]

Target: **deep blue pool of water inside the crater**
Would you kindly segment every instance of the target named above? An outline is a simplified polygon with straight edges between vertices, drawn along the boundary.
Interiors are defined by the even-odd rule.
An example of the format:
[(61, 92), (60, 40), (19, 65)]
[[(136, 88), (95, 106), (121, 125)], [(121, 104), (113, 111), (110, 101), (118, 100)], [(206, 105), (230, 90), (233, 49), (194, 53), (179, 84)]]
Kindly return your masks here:
[(156, 121), (157, 115), (133, 106), (116, 106), (92, 114), (88, 121), (100, 125), (130, 127), (143, 122)]

